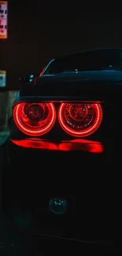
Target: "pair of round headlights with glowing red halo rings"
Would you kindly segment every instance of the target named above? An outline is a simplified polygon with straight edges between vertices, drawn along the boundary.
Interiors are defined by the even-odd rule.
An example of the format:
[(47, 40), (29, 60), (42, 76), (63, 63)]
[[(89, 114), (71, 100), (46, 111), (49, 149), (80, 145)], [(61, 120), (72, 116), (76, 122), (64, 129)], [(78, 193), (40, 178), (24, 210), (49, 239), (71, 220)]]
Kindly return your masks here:
[(69, 135), (87, 137), (102, 123), (102, 106), (100, 102), (20, 102), (13, 108), (15, 124), (26, 135), (46, 134), (56, 118)]

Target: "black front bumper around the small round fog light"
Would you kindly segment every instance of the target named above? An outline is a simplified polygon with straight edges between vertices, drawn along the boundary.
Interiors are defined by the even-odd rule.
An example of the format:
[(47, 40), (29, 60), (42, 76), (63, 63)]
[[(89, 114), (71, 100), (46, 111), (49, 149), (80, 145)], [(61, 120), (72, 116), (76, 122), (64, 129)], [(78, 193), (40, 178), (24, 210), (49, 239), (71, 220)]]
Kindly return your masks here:
[[(113, 196), (107, 192), (109, 173), (104, 153), (31, 149), (10, 140), (6, 146), (9, 169), (4, 173), (3, 187), (14, 224), (27, 230), (28, 223), (29, 230), (37, 234), (77, 239), (112, 235)], [(49, 201), (54, 197), (67, 199), (64, 215), (50, 212)]]

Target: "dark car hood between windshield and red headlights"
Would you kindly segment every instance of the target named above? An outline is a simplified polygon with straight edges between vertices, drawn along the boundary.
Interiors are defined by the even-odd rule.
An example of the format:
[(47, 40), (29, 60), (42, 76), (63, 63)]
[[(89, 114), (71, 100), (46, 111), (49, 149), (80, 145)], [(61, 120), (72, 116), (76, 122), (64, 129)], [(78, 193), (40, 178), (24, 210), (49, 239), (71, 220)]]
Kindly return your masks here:
[[(61, 76), (42, 76), (33, 82), (27, 83), (20, 88), (17, 94), (16, 102), (26, 101), (53, 101), (53, 100), (92, 100), (92, 101), (110, 101), (121, 98), (122, 80), (65, 80)], [(65, 91), (65, 93), (64, 93)], [(37, 96), (38, 95), (38, 96)]]

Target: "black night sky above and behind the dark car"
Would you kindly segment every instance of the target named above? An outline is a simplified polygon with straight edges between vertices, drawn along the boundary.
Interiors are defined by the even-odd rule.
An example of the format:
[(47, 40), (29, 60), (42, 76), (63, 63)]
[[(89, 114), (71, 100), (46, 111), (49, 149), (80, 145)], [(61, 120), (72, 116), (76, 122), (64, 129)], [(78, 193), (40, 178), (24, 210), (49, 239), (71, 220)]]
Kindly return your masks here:
[(122, 47), (122, 6), (79, 3), (9, 1), (9, 37), (0, 41), (7, 89), (18, 89), (20, 75), (39, 73), (57, 55)]

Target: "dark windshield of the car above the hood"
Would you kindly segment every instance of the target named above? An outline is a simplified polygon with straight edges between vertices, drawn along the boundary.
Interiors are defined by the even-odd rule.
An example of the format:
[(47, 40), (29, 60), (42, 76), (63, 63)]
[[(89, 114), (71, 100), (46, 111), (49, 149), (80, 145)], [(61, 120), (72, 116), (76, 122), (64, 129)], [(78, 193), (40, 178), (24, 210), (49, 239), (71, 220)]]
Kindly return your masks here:
[(50, 63), (44, 75), (104, 69), (122, 70), (121, 49), (91, 50), (56, 58)]

